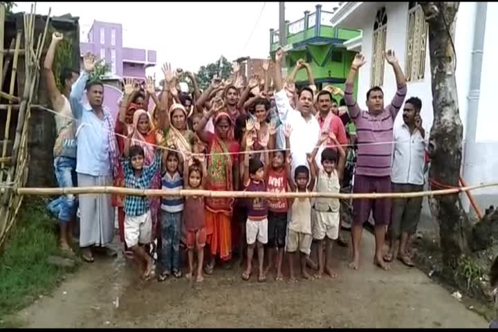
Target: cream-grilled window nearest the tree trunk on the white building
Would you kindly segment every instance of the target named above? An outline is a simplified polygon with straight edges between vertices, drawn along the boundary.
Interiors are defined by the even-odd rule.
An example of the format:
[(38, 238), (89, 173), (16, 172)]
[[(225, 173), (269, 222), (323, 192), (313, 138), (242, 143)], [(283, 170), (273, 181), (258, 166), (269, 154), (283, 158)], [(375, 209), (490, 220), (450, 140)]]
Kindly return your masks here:
[(408, 82), (423, 80), (425, 73), (425, 50), (429, 24), (425, 21), (418, 2), (408, 6), (408, 28), (406, 44), (405, 75)]

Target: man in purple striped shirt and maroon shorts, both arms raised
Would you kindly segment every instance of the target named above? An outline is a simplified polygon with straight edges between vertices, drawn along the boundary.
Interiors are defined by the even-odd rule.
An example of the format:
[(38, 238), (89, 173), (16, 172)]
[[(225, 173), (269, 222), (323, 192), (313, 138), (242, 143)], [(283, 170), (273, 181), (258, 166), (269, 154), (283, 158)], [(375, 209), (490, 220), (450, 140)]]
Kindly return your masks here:
[[(344, 100), (349, 116), (356, 126), (358, 136), (358, 155), (353, 192), (391, 192), (391, 157), (394, 119), (403, 105), (407, 93), (405, 75), (398, 64), (393, 50), (387, 50), (385, 59), (394, 70), (398, 89), (391, 103), (384, 107), (384, 93), (379, 86), (367, 91), (367, 111), (362, 111), (353, 98), (353, 83), (358, 70), (365, 64), (365, 57), (358, 54), (353, 59), (351, 70), (344, 86)], [(374, 144), (371, 144), (374, 143)], [(353, 259), (349, 267), (358, 269), (360, 263), (360, 240), (363, 224), (370, 212), (374, 212), (376, 252), (374, 264), (384, 270), (389, 266), (383, 258), (386, 226), (391, 218), (391, 199), (355, 199), (353, 201)]]

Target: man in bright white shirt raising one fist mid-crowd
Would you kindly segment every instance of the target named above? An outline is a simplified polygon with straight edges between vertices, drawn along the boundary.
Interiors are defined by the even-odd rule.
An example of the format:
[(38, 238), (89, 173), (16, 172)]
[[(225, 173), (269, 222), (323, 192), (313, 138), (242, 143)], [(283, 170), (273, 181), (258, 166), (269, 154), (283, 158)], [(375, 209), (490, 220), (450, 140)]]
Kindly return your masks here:
[[(279, 48), (275, 54), (275, 104), (282, 124), (291, 124), (291, 154), (293, 155), (292, 172), (299, 165), (308, 167), (306, 154), (311, 154), (320, 138), (320, 124), (311, 109), (313, 108), (313, 90), (305, 87), (297, 94), (296, 109), (291, 107), (282, 83), (282, 56), (284, 50)], [(288, 148), (288, 147), (286, 147)]]

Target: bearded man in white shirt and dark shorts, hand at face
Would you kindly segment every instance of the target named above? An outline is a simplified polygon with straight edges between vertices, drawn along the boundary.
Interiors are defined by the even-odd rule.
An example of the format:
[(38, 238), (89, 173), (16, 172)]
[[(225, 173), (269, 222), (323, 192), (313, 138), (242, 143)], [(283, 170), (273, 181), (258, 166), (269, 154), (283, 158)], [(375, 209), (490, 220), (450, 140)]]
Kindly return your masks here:
[[(420, 116), (422, 102), (409, 98), (403, 108), (403, 124), (394, 127), (394, 154), (391, 169), (393, 192), (421, 192), (424, 185), (425, 131)], [(421, 215), (423, 197), (393, 199), (389, 224), (389, 252), (385, 261), (392, 261), (399, 243), (398, 259), (414, 266), (409, 257), (409, 239), (415, 234)]]

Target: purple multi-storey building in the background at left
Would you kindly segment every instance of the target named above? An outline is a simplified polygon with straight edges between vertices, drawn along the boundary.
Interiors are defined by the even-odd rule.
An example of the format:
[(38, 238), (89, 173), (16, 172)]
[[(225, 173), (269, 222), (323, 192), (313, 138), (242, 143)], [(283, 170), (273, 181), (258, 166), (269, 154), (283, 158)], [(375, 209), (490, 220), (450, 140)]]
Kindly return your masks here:
[[(101, 39), (101, 33), (104, 34), (103, 39)], [(113, 38), (114, 35), (114, 38)], [(103, 42), (103, 44), (102, 44)], [(122, 47), (122, 25), (117, 23), (107, 23), (102, 21), (93, 21), (93, 25), (89, 31), (89, 43), (80, 44), (81, 55), (91, 52), (93, 55), (101, 59), (101, 50), (104, 49), (105, 62), (112, 64), (112, 50), (115, 50), (116, 59), (114, 63), (116, 64), (116, 73), (122, 77), (123, 73), (123, 59), (132, 60), (141, 64), (146, 63), (146, 67), (156, 65), (156, 51), (147, 50), (147, 57), (145, 56), (146, 50), (140, 48), (124, 48)], [(134, 71), (133, 71), (134, 72)], [(145, 68), (143, 74), (145, 75)]]

